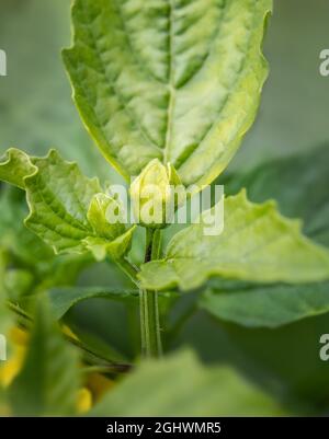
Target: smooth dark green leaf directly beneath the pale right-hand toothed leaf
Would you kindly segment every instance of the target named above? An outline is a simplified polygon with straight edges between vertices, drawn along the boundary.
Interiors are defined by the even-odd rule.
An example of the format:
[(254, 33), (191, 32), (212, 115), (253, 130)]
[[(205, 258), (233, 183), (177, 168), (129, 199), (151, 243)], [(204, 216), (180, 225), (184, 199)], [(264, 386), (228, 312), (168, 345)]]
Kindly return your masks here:
[(329, 312), (329, 282), (206, 290), (201, 308), (248, 327), (279, 327)]

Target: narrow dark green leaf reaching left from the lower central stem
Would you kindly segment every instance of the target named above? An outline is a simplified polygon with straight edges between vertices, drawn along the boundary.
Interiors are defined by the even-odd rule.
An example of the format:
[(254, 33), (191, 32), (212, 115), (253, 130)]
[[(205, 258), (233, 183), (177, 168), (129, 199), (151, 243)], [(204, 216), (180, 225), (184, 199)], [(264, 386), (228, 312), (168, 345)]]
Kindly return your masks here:
[(111, 300), (125, 301), (138, 299), (139, 293), (136, 290), (122, 290), (89, 287), (89, 288), (56, 288), (49, 291), (49, 300), (52, 304), (53, 315), (61, 319), (72, 307), (83, 300), (92, 298), (103, 298)]

